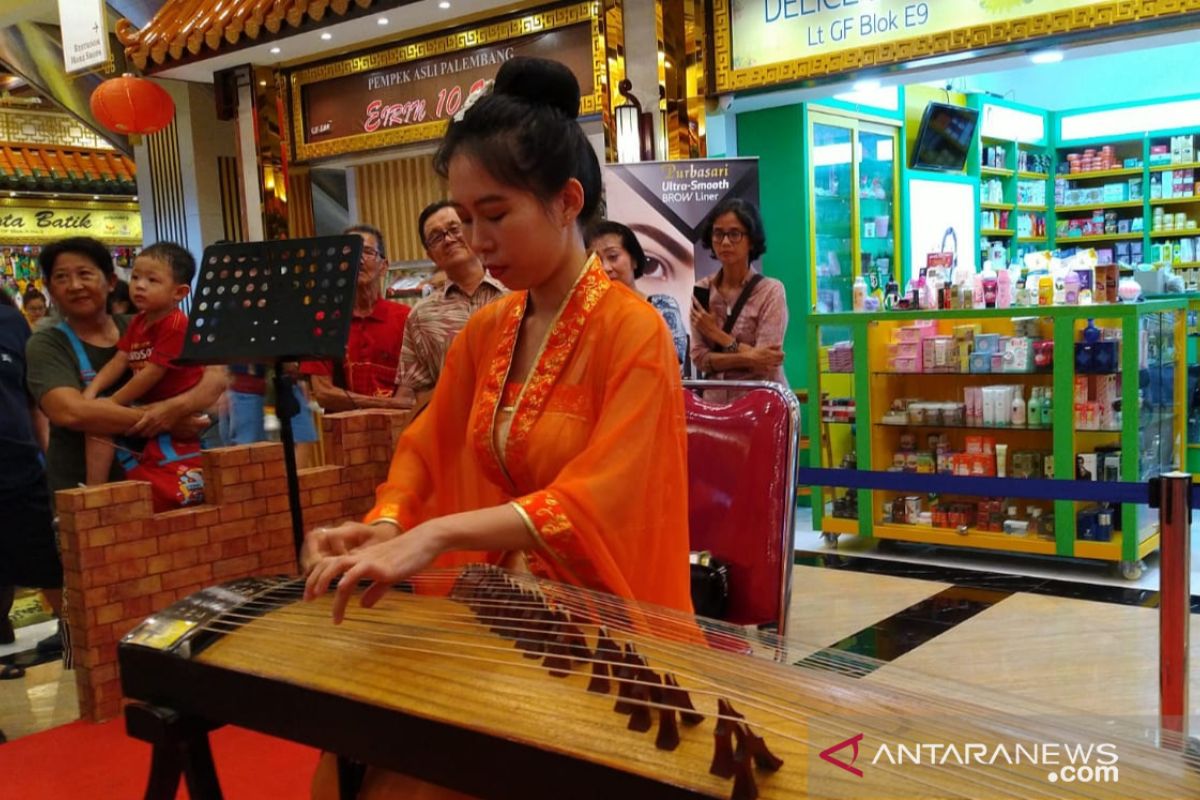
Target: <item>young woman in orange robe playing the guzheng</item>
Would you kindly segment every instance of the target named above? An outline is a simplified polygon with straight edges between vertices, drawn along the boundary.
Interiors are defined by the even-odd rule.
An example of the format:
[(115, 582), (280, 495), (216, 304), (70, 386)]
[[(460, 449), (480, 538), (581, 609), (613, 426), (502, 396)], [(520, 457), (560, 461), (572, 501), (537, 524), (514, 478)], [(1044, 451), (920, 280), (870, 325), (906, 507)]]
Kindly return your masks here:
[[(686, 431), (662, 318), (588, 258), (600, 164), (560, 64), (506, 62), (436, 156), (488, 271), (512, 294), (456, 337), (364, 523), (311, 531), (306, 597), (341, 576), (376, 603), (430, 566), (473, 561), (691, 610)], [(314, 796), (336, 796), (331, 758)], [(384, 788), (386, 787), (386, 788)], [(461, 796), (368, 774), (364, 796)]]

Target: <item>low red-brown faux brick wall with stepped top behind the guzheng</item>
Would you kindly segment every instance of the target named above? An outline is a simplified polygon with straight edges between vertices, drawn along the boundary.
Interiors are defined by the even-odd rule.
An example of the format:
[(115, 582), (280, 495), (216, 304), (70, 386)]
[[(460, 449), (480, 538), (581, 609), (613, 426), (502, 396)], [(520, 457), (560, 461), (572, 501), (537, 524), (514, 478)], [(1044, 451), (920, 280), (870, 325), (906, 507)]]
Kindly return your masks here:
[[(356, 519), (371, 509), (400, 419), (392, 411), (324, 417), (326, 465), (300, 471), (306, 529)], [(83, 718), (120, 712), (116, 643), (144, 618), (224, 581), (296, 572), (282, 445), (206, 451), (204, 483), (203, 505), (157, 515), (144, 482), (58, 493)]]

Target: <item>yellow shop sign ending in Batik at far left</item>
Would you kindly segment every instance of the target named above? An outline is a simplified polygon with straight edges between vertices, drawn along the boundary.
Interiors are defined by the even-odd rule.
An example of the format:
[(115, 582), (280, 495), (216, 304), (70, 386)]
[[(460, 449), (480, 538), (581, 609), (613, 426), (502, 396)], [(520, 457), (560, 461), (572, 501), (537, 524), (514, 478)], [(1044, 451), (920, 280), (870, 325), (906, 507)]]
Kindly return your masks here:
[(140, 245), (142, 215), (136, 204), (0, 200), (0, 243), (44, 245), (66, 236)]

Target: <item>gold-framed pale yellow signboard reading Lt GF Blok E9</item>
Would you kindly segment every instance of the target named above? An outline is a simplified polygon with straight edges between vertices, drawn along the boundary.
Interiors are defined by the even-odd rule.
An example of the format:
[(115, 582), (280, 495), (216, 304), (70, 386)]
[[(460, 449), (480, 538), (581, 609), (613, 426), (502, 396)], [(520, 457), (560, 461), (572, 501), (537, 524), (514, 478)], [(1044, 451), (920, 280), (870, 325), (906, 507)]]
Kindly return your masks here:
[(1154, 0), (714, 0), (732, 91), (1194, 13)]

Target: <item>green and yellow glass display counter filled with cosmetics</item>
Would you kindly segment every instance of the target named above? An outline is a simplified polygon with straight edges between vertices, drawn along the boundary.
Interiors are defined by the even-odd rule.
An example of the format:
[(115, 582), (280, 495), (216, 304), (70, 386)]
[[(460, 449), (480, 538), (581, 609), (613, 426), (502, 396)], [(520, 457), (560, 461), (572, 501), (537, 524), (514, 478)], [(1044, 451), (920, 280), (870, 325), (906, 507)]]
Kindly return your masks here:
[[(938, 450), (962, 456), (984, 457), (984, 475), (998, 471), (998, 458), (1006, 459), (1006, 474), (1022, 474), (1028, 458), (1049, 470), (1046, 477), (1074, 480), (1076, 465), (1085, 475), (1104, 475), (1106, 480), (1144, 481), (1150, 476), (1177, 469), (1187, 451), (1187, 318), (1188, 300), (1156, 299), (1138, 303), (1105, 306), (1050, 306), (1021, 308), (904, 311), (814, 314), (809, 318), (808, 341), (812, 343), (809, 359), (809, 379), (818, 391), (809, 397), (809, 434), (814, 446), (814, 462), (823, 467), (842, 467), (841, 455), (852, 451), (856, 469), (888, 471), (902, 463), (896, 453)], [(1034, 318), (1030, 320), (1028, 318)], [(1109, 331), (1109, 339), (1118, 336), (1116, 359), (1118, 371), (1105, 374), (1087, 373), (1086, 381), (1076, 381), (1085, 373), (1075, 372), (1076, 344), (1084, 342), (1088, 321)], [(936, 332), (931, 337), (962, 336), (965, 330), (980, 335), (997, 335), (1020, 339), (1022, 336), (1052, 342), (1054, 359), (1049, 368), (1031, 372), (906, 372), (889, 368), (895, 357), (893, 345), (913, 341), (912, 329), (926, 326)], [(901, 333), (901, 329), (910, 329)], [(1036, 331), (1036, 335), (1034, 332)], [(907, 339), (902, 337), (907, 336)], [(965, 342), (966, 339), (960, 339)], [(983, 341), (983, 339), (980, 339)], [(995, 342), (996, 339), (990, 339)], [(822, 368), (822, 350), (839, 342), (851, 345), (854, 373), (829, 373)], [(922, 345), (923, 347), (923, 345)], [(889, 354), (889, 348), (893, 348)], [(1121, 379), (1117, 378), (1121, 377)], [(1100, 386), (1104, 395), (1097, 404), (1120, 402), (1121, 416), (1103, 421), (1105, 428), (1092, 428), (1076, 422), (1076, 392), (1086, 384), (1085, 392), (1097, 401)], [(962, 403), (965, 390), (988, 386), (1018, 386), (1022, 402), (1037, 390), (1044, 402), (1051, 393), (1050, 420), (1040, 427), (1001, 427), (982, 425), (884, 422), (896, 404), (912, 401), (928, 403)], [(852, 397), (858, 420), (869, 425), (846, 426), (822, 421), (822, 393)], [(907, 398), (907, 399), (902, 399)], [(1118, 429), (1110, 426), (1120, 425)], [(916, 444), (913, 444), (916, 443)], [(979, 449), (983, 447), (983, 451)], [(943, 450), (944, 449), (944, 450)], [(838, 458), (833, 458), (838, 456)], [(929, 469), (925, 452), (922, 463)], [(817, 462), (820, 458), (820, 462)], [(1078, 461), (1078, 464), (1076, 464)], [(1049, 464), (1049, 467), (1045, 467)], [(912, 469), (911, 463), (905, 469)], [(919, 469), (919, 468), (918, 468)], [(976, 473), (978, 474), (978, 473)], [(936, 480), (936, 476), (934, 476)], [(853, 498), (848, 495), (853, 494)], [(1157, 518), (1145, 506), (1121, 505), (1096, 507), (1069, 500), (1025, 501), (1020, 498), (1002, 500), (1004, 522), (1016, 522), (1013, 533), (996, 530), (995, 507), (985, 498), (946, 498), (922, 494), (905, 497), (898, 492), (870, 489), (827, 489), (814, 487), (814, 528), (827, 540), (857, 535), (866, 539), (888, 539), (920, 542), (941, 547), (970, 547), (1013, 553), (1030, 553), (1061, 558), (1097, 559), (1111, 563), (1120, 575), (1132, 578), (1141, 569), (1141, 559), (1158, 549)], [(832, 500), (832, 503), (829, 503)], [(851, 504), (850, 500), (856, 503)], [(914, 519), (907, 518), (905, 501), (914, 504)], [(830, 507), (840, 504), (844, 512), (853, 505), (858, 519), (845, 513), (833, 516)], [(942, 511), (948, 506), (935, 504), (965, 504), (967, 527), (944, 524)], [(976, 504), (976, 505), (971, 505)], [(1010, 517), (1015, 509), (1016, 516)], [(930, 524), (930, 512), (940, 522)], [(1110, 521), (1109, 527), (1091, 527), (1097, 513)], [(955, 512), (958, 513), (958, 512)], [(990, 513), (989, 523), (984, 515)], [(1025, 533), (1020, 525), (1030, 525)], [(1096, 531), (1103, 533), (1097, 537)]]

